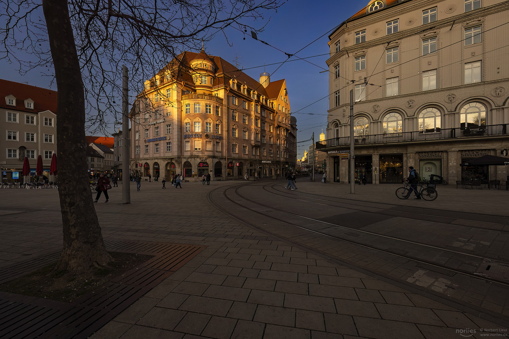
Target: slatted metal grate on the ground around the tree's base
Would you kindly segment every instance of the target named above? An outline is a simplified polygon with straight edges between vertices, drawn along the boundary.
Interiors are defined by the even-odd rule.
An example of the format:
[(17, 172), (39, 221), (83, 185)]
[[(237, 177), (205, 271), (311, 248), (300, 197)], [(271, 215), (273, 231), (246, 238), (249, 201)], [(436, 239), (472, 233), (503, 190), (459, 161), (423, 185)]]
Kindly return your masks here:
[[(154, 257), (71, 303), (0, 292), (0, 337), (87, 338), (206, 247), (116, 240), (106, 241), (105, 245), (108, 251)], [(59, 253), (53, 253), (13, 265), (2, 272), (15, 277), (29, 272), (29, 269), (35, 270), (54, 262), (59, 256)], [(4, 279), (8, 281), (14, 278)]]

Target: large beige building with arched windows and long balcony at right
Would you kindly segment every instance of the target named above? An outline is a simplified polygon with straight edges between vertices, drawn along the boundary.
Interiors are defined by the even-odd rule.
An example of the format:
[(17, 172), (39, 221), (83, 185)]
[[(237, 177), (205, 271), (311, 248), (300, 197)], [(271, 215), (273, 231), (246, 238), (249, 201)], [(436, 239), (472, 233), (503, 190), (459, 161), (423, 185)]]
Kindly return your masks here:
[[(350, 90), (355, 178), (505, 180), (507, 166), (464, 166), (509, 148), (509, 2), (372, 0), (329, 36), (329, 175), (349, 182)], [(505, 150), (505, 151), (504, 151)]]

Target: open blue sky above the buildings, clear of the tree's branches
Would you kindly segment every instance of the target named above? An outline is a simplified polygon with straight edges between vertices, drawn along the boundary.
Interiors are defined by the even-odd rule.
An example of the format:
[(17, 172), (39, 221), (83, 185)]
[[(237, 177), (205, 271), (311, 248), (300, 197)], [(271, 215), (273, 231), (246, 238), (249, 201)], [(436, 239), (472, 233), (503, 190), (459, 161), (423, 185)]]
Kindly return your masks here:
[[(264, 32), (258, 34), (259, 40), (273, 47), (252, 39), (249, 30), (244, 36), (239, 30), (229, 28), (226, 34), (232, 46), (229, 46), (223, 35), (218, 34), (212, 41), (206, 43), (205, 50), (208, 54), (220, 56), (232, 64), (237, 56), (240, 69), (253, 79), (258, 80), (262, 72), (270, 73), (272, 81), (286, 79), (292, 115), (297, 118), (297, 141), (309, 139), (313, 132), (315, 140), (318, 140), (322, 129), (325, 133), (327, 126), (329, 101), (322, 98), (328, 95), (329, 75), (328, 72), (320, 72), (328, 71), (325, 63), (329, 52), (328, 35), (332, 29), (366, 6), (368, 2), (369, 0), (362, 2), (289, 0), (277, 10), (277, 13), (270, 12), (265, 16), (265, 19), (270, 17), (270, 21)], [(316, 39), (318, 40), (315, 41)], [(302, 49), (309, 43), (312, 44)], [(300, 49), (302, 50), (296, 53)], [(306, 62), (296, 56), (288, 59), (284, 52), (295, 54), (300, 58), (326, 55), (307, 58), (309, 62)], [(281, 67), (279, 64), (270, 65), (287, 59), (288, 61)], [(21, 76), (4, 60), (0, 60), (0, 69), (2, 69), (0, 77), (3, 79), (28, 82), (30, 85), (56, 90), (56, 85), (50, 84), (51, 79), (40, 76), (37, 70)], [(317, 100), (320, 101), (308, 106)], [(298, 143), (297, 158), (301, 158), (310, 145), (311, 141)]]

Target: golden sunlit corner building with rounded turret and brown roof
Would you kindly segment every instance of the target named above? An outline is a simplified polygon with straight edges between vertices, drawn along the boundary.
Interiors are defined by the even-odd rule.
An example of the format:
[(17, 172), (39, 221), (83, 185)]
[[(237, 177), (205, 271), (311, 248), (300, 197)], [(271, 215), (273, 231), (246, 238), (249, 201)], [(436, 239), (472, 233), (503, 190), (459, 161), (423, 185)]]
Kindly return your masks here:
[(132, 173), (194, 181), (295, 169), (297, 121), (285, 80), (254, 80), (204, 50), (181, 53), (146, 81), (130, 118)]

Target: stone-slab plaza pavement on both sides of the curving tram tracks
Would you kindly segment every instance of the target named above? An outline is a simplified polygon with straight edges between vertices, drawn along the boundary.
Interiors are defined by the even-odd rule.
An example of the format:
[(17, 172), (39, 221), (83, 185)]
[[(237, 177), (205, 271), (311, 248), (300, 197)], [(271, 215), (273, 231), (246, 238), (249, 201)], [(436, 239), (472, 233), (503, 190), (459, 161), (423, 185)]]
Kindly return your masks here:
[[(140, 192), (131, 183), (130, 205), (121, 204), (121, 187), (110, 191), (109, 203), (101, 197), (95, 208), (105, 240), (207, 248), (93, 339), (507, 336), (506, 324), (498, 324), (501, 321), (479, 318), (461, 305), (451, 306), (329, 261), (229, 217), (209, 203), (207, 194), (234, 183), (240, 181), (212, 181), (210, 186), (185, 182), (182, 189), (168, 184), (162, 190), (159, 182), (143, 182)], [(357, 186), (353, 196), (345, 184), (304, 179), (297, 184), (299, 192), (324, 196), (509, 216), (503, 205), (507, 191), (438, 187), (436, 201), (421, 202), (397, 199), (395, 185)], [(61, 249), (56, 190), (5, 189), (2, 195), (7, 199), (0, 208), (0, 268)]]

